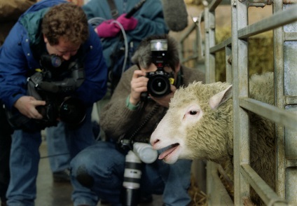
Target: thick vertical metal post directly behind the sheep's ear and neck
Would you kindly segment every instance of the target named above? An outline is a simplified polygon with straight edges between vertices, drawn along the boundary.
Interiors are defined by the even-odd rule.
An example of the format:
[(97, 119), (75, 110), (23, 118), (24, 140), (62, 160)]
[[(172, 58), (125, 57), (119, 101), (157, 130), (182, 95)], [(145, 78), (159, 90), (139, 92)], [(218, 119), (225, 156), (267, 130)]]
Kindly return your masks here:
[[(240, 173), (240, 165), (249, 163), (249, 119), (239, 106), (239, 97), (248, 96), (247, 41), (238, 39), (237, 30), (247, 26), (247, 2), (231, 1), (232, 70), (233, 70), (233, 142), (234, 142), (234, 205), (242, 205), (249, 195), (249, 184)], [(248, 127), (247, 127), (248, 125)], [(244, 129), (245, 128), (245, 129)]]

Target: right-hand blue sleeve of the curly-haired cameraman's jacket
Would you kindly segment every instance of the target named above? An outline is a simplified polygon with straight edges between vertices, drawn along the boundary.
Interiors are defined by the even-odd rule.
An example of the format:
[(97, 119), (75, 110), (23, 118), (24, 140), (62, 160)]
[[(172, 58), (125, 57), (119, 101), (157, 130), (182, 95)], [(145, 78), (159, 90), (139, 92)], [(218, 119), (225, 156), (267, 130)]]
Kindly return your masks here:
[(83, 60), (85, 67), (85, 81), (76, 90), (76, 95), (85, 102), (92, 105), (106, 94), (107, 67), (102, 54), (102, 45), (97, 34), (89, 26), (90, 36), (84, 43), (87, 50)]

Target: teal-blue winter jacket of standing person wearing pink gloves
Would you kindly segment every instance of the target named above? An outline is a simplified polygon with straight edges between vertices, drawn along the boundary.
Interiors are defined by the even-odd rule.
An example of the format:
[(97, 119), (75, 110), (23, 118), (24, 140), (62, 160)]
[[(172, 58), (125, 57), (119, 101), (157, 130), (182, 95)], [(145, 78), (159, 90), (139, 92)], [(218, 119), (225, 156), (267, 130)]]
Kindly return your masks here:
[[(113, 0), (118, 10), (118, 16), (128, 13), (139, 3), (140, 0)], [(83, 6), (88, 19), (102, 18), (103, 20), (112, 20), (111, 11), (107, 0), (90, 0)], [(168, 34), (169, 29), (166, 25), (163, 15), (163, 6), (160, 0), (146, 0), (143, 6), (133, 17), (138, 20), (137, 27), (132, 31), (126, 31), (128, 42), (129, 57), (131, 58), (134, 50), (137, 49), (140, 41), (147, 36), (156, 34)], [(102, 39), (103, 53), (107, 67), (111, 66), (111, 54), (116, 49), (118, 38)], [(129, 68), (131, 64), (127, 64)]]

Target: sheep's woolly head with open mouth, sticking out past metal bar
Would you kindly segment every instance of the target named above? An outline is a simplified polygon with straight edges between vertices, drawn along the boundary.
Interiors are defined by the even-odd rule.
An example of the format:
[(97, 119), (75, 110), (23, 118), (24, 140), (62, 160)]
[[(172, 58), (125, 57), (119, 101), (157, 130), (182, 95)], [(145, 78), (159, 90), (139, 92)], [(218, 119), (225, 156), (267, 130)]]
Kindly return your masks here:
[(177, 90), (151, 135), (153, 149), (163, 151), (159, 159), (166, 163), (184, 158), (226, 160), (233, 148), (230, 97), (232, 85), (221, 82), (194, 82)]

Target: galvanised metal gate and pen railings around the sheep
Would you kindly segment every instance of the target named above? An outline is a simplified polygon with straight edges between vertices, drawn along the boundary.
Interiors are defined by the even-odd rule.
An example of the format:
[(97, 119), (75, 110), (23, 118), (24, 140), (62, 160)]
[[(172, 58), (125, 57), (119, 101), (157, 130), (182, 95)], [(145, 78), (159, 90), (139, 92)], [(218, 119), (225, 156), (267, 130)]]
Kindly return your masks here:
[[(206, 2), (206, 1), (205, 1)], [(215, 54), (226, 55), (226, 80), (233, 83), (234, 136), (234, 202), (228, 196), (217, 174), (218, 165), (207, 163), (208, 205), (242, 205), (242, 198), (254, 188), (266, 205), (297, 205), (297, 1), (296, 0), (230, 0), (231, 36), (215, 42), (216, 15), (220, 4), (213, 0), (188, 32), (195, 30), (198, 50), (192, 59), (204, 60), (207, 83), (215, 81)], [(249, 25), (248, 8), (272, 5), (272, 15)], [(202, 46), (200, 22), (205, 23)], [(249, 37), (273, 31), (275, 106), (249, 97)], [(181, 47), (188, 33), (181, 38)], [(199, 39), (200, 38), (200, 39)], [(204, 55), (201, 55), (204, 54)], [(182, 58), (181, 60), (186, 61)], [(232, 63), (231, 63), (232, 62)], [(249, 165), (248, 111), (276, 123), (276, 191)]]

